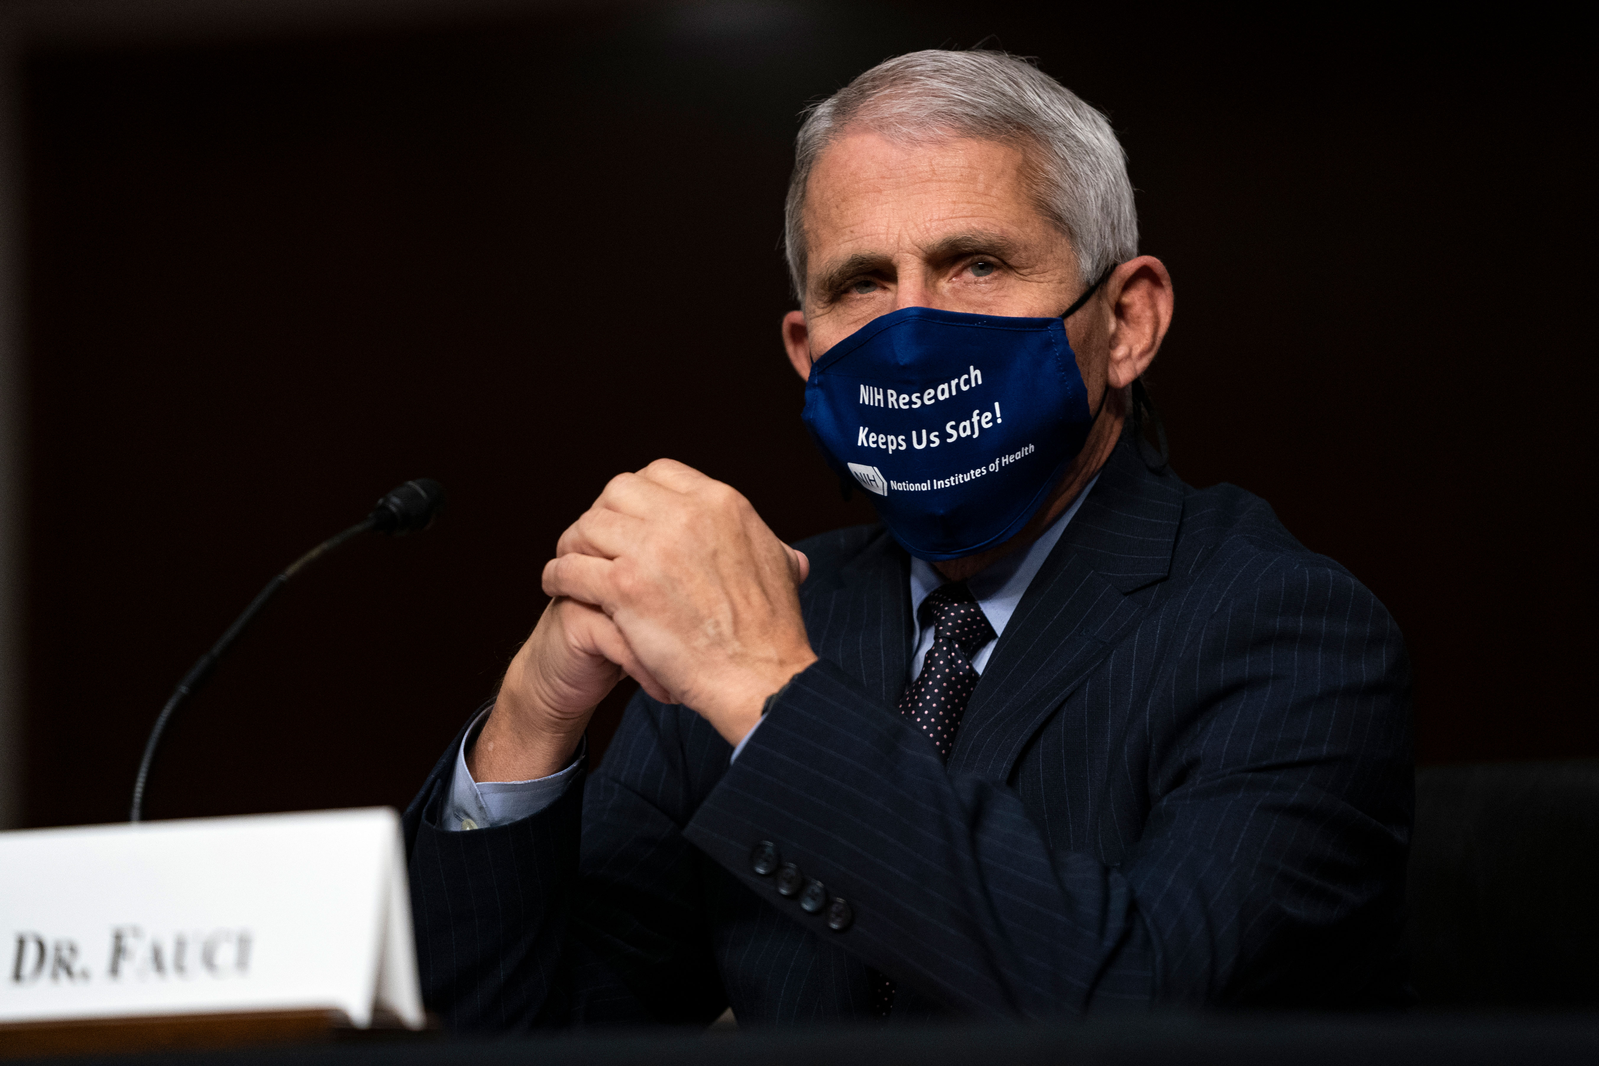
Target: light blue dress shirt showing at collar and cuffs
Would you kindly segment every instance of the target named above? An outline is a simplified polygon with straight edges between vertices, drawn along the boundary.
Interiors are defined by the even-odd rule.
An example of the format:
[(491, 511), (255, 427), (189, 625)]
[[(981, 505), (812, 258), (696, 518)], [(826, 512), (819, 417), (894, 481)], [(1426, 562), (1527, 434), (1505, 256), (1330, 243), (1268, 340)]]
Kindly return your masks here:
[[(972, 590), (972, 596), (977, 598), (977, 606), (982, 609), (983, 617), (995, 628), (995, 639), (983, 644), (972, 658), (972, 668), (979, 674), (988, 665), (988, 657), (993, 655), (995, 644), (999, 642), (999, 634), (1011, 623), (1011, 615), (1015, 614), (1017, 604), (1022, 603), (1022, 595), (1033, 583), (1033, 577), (1038, 575), (1038, 567), (1044, 566), (1044, 559), (1055, 550), (1062, 531), (1065, 531), (1067, 524), (1078, 513), (1078, 508), (1083, 507), (1083, 500), (1087, 499), (1095, 481), (1099, 481), (1099, 475), (1094, 476), (1094, 481), (1089, 481), (1087, 487), (1078, 492), (1078, 499), (1071, 502), (1071, 507), (1051, 523), (1049, 529), (1038, 540), (1028, 545), (1027, 551), (1007, 555), (988, 569), (967, 579), (966, 587)], [(921, 662), (927, 657), (934, 639), (932, 628), (921, 628), (921, 622), (915, 620), (915, 615), (921, 611), (921, 601), (927, 598), (927, 593), (943, 583), (945, 577), (934, 569), (932, 563), (915, 558), (910, 561), (910, 604), (911, 625), (915, 626), (911, 646), (916, 652), (910, 660), (910, 673), (905, 678), (907, 684), (915, 681), (916, 674), (921, 673)], [(456, 754), (456, 774), (449, 783), (449, 801), (445, 804), (443, 828), (446, 829), (481, 829), (536, 815), (553, 804), (577, 775), (577, 764), (584, 754), (582, 746), (579, 746), (571, 766), (550, 777), (536, 777), (526, 782), (472, 780), (472, 772), (467, 770), (467, 746), (477, 740), (486, 718), (488, 710), (478, 714), (477, 721), (472, 722), (472, 729), (467, 730), (467, 735), (461, 742), (461, 751)], [(761, 724), (756, 722), (755, 729), (744, 735), (739, 746), (732, 750), (734, 759), (739, 758), (744, 745), (750, 743), (750, 737), (760, 727)]]

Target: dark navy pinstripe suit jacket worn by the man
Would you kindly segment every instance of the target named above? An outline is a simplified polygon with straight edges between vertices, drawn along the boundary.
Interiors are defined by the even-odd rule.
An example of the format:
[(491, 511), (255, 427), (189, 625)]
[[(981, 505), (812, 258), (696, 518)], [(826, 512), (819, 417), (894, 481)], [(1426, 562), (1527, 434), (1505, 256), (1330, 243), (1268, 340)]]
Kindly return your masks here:
[[(1115, 1005), (1393, 1004), (1409, 666), (1383, 606), (1262, 500), (1127, 441), (995, 647), (948, 766), (899, 718), (908, 559), (801, 545), (822, 662), (729, 767), (640, 694), (604, 764), (531, 818), (406, 812), (424, 994), (467, 1029)], [(459, 737), (457, 737), (459, 743)], [(843, 897), (831, 932), (752, 869), (772, 841)]]

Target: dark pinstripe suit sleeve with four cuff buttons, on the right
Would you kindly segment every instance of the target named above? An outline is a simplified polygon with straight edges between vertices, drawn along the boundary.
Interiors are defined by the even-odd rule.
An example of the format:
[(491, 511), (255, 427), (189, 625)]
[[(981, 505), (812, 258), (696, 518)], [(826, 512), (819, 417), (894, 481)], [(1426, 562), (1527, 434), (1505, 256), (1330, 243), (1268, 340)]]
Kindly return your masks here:
[[(1278, 563), (1158, 663), (1129, 681), (1164, 724), (1116, 866), (1052, 852), (1015, 790), (948, 774), (827, 662), (774, 702), (688, 839), (958, 1013), (1359, 1002), (1393, 943), (1409, 829), (1398, 630), (1346, 572)], [(780, 900), (752, 869), (758, 841), (846, 898), (852, 925)]]

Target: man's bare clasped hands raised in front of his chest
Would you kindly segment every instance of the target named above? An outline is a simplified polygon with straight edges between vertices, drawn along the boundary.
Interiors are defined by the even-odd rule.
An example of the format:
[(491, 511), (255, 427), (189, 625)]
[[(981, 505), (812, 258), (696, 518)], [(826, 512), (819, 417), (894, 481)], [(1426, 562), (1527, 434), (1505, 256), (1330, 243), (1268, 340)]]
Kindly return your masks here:
[(617, 475), (544, 566), (553, 599), (505, 673), (473, 777), (561, 769), (624, 673), (739, 743), (766, 697), (815, 662), (800, 615), (807, 572), (732, 487), (670, 459)]

